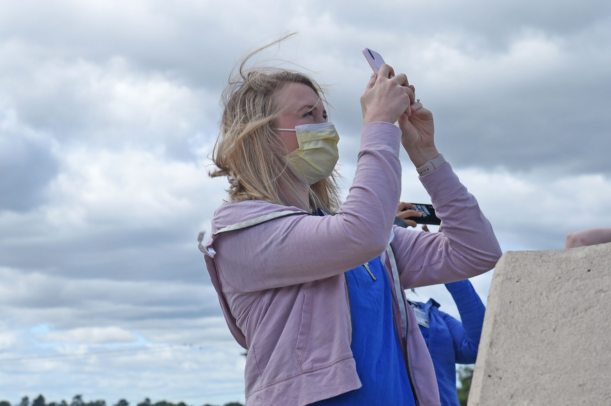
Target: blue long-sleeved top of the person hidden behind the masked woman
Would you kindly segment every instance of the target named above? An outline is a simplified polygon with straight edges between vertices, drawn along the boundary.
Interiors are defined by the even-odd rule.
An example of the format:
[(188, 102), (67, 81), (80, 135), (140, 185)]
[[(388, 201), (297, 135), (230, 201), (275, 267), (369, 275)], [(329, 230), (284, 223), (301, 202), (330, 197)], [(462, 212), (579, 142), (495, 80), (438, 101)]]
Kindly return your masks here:
[(433, 359), (441, 405), (460, 406), (455, 364), (475, 363), (486, 308), (468, 280), (447, 283), (445, 287), (452, 294), (463, 322), (440, 311), (439, 304), (430, 299), (417, 303), (428, 314), (430, 326), (420, 326), (420, 331)]

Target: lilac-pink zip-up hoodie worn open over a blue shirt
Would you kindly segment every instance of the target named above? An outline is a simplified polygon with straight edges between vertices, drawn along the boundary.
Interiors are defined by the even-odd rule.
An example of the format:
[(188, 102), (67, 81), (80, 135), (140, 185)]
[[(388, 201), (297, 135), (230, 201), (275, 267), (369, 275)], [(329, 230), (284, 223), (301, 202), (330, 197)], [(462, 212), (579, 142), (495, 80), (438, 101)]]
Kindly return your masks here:
[[(364, 125), (354, 182), (336, 215), (265, 201), (229, 202), (214, 213), (212, 237), (200, 249), (227, 325), (248, 349), (247, 405), (301, 406), (360, 388), (344, 272), (381, 256), (391, 238), (404, 289), (479, 275), (501, 256), (490, 223), (449, 163), (419, 178), (443, 233), (392, 225), (400, 138), (395, 125)], [(390, 258), (382, 259), (392, 284)], [(437, 406), (433, 363), (410, 306), (407, 323), (401, 320), (401, 296), (393, 290), (393, 317), (417, 404)]]

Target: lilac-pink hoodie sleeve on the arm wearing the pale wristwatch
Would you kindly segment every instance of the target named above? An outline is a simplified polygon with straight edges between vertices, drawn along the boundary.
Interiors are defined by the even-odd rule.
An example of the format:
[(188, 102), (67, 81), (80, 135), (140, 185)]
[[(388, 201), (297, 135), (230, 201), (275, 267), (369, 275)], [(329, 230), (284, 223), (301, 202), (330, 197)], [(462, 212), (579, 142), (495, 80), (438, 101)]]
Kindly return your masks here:
[(492, 226), (449, 163), (420, 177), (443, 232), (393, 227), (392, 248), (405, 289), (467, 279), (491, 270), (502, 255)]

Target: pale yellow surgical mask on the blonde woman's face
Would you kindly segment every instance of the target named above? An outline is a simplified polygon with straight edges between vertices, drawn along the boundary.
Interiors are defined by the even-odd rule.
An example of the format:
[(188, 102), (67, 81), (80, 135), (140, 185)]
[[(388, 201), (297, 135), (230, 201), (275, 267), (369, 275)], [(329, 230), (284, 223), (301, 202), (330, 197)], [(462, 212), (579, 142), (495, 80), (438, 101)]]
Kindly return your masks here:
[(303, 124), (278, 130), (295, 131), (299, 148), (286, 158), (305, 182), (312, 185), (331, 176), (339, 158), (337, 142), (340, 140), (333, 123)]

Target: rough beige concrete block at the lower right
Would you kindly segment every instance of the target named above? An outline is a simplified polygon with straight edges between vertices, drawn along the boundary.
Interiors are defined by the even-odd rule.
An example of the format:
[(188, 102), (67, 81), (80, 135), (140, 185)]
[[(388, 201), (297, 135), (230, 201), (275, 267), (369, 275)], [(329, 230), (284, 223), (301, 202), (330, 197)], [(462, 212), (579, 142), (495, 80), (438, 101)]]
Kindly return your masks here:
[(469, 406), (611, 405), (611, 243), (494, 271)]

